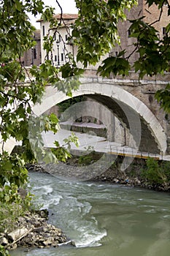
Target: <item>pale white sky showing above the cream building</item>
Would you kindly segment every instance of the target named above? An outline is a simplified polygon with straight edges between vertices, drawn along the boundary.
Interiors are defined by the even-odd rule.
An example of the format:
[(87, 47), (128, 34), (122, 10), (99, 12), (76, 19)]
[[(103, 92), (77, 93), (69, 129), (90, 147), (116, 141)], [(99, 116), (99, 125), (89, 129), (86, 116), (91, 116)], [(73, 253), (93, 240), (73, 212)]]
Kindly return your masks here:
[[(58, 4), (56, 4), (55, 0), (43, 0), (45, 2), (45, 4), (47, 4), (48, 6), (51, 6), (53, 8), (55, 8), (55, 13), (60, 13), (60, 8), (58, 7)], [(76, 4), (74, 2), (74, 0), (58, 0), (59, 4), (61, 4), (61, 7), (63, 9), (64, 13), (77, 13), (77, 8), (76, 8)], [(36, 23), (36, 20), (38, 20), (40, 18), (40, 16), (36, 16), (36, 18), (34, 18), (34, 16), (30, 16), (31, 19), (31, 23), (36, 27), (36, 29), (39, 29), (39, 22)]]

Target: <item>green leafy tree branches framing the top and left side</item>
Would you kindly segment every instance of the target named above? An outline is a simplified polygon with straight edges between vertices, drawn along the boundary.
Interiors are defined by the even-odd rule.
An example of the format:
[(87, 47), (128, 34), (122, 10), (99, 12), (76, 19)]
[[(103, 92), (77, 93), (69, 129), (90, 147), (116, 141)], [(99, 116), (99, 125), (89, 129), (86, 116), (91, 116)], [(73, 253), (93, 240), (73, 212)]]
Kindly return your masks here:
[[(167, 0), (147, 0), (149, 6), (155, 4), (162, 14), (163, 6), (166, 4), (169, 19), (170, 4)], [(75, 76), (81, 75), (83, 69), (77, 67), (72, 55), (69, 61), (60, 69), (54, 66), (53, 59), (45, 60), (39, 67), (33, 66), (28, 70), (23, 67), (21, 57), (23, 53), (34, 47), (34, 27), (28, 18), (32, 15), (42, 14), (42, 19), (50, 22), (50, 29), (61, 25), (61, 19), (53, 18), (53, 7), (46, 7), (42, 0), (4, 0), (0, 2), (0, 133), (1, 133), (1, 154), (0, 154), (0, 197), (8, 203), (16, 200), (16, 187), (23, 187), (28, 179), (26, 162), (35, 159), (33, 148), (39, 147), (36, 154), (44, 155), (45, 159), (62, 159), (69, 157), (66, 151), (62, 151), (58, 143), (58, 152), (45, 151), (42, 138), (39, 132), (42, 130), (53, 132), (58, 131), (58, 119), (55, 116), (42, 116), (32, 118), (31, 106), (40, 102), (45, 91), (45, 86), (58, 83), (58, 89), (63, 90), (72, 96), (72, 90), (77, 89), (78, 81)], [(136, 0), (76, 0), (78, 18), (72, 26), (71, 39), (77, 45), (77, 61), (85, 68), (88, 64), (95, 65), (101, 57), (120, 44), (120, 37), (117, 30), (117, 23), (125, 20), (125, 9), (130, 10), (137, 4)], [(160, 16), (161, 18), (161, 16)], [(155, 23), (158, 20), (155, 20)], [(134, 52), (139, 53), (139, 59), (133, 64), (139, 76), (157, 75), (169, 72), (170, 62), (170, 24), (166, 26), (166, 34), (159, 39), (154, 23), (147, 24), (142, 17), (131, 20), (131, 37), (135, 39)], [(53, 56), (54, 37), (47, 34), (44, 48), (47, 53)], [(128, 57), (124, 58), (125, 49), (117, 56), (107, 57), (98, 68), (98, 73), (109, 76), (112, 72), (115, 75), (128, 75), (132, 68)], [(61, 74), (61, 75), (59, 75)], [(29, 83), (26, 85), (26, 77)], [(66, 78), (70, 78), (66, 80)], [(156, 97), (161, 101), (165, 110), (170, 110), (169, 98), (170, 89), (158, 91)], [(36, 129), (38, 124), (39, 129)], [(29, 126), (34, 127), (34, 138), (30, 138)], [(22, 143), (23, 151), (20, 154), (9, 156), (4, 151), (4, 144), (7, 139), (15, 138)], [(32, 141), (32, 145), (31, 145)], [(70, 145), (76, 138), (66, 140)], [(7, 195), (5, 186), (11, 187)], [(14, 189), (12, 189), (14, 188)], [(4, 190), (6, 194), (4, 194)], [(13, 193), (13, 195), (12, 195)]]

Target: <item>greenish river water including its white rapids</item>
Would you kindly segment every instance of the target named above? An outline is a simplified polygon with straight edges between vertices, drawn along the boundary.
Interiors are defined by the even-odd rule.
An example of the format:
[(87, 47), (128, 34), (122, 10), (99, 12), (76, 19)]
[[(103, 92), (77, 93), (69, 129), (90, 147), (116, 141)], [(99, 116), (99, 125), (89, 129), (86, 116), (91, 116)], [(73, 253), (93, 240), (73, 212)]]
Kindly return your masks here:
[(76, 247), (12, 251), (12, 256), (169, 256), (170, 195), (139, 188), (63, 181), (30, 173), (36, 200)]

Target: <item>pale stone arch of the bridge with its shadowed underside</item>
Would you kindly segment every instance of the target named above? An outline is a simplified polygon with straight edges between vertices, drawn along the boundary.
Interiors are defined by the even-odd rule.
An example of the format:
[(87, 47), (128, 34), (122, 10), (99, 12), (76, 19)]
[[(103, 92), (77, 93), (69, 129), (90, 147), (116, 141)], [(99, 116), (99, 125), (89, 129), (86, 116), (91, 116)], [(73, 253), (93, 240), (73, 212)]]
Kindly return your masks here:
[[(113, 84), (112, 80), (108, 83), (104, 80), (98, 82), (97, 79), (84, 78), (80, 88), (77, 91), (73, 91), (72, 94), (73, 97), (87, 95), (107, 105), (115, 113), (115, 116), (123, 121), (126, 127), (129, 124), (127, 117), (123, 115), (123, 109), (132, 114), (138, 113), (142, 124), (142, 143), (139, 150), (152, 153), (163, 152), (163, 154), (166, 154), (166, 134), (158, 119), (140, 99), (122, 89), (121, 86)], [(42, 104), (34, 106), (34, 113), (40, 116), (46, 110), (66, 99), (69, 99), (66, 94), (58, 91), (56, 88), (54, 89), (52, 86), (47, 86)], [(148, 144), (147, 148), (146, 145), (144, 146), (146, 142)], [(150, 147), (151, 145), (152, 147)]]

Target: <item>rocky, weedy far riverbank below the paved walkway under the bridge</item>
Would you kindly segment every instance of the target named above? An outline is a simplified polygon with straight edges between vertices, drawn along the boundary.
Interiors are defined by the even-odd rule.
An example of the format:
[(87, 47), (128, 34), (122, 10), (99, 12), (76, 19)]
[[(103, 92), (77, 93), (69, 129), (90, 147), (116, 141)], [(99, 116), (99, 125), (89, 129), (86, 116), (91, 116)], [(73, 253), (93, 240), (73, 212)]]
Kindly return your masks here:
[[(110, 184), (120, 184), (127, 187), (142, 187), (144, 189), (152, 189), (160, 192), (170, 192), (170, 182), (166, 181), (164, 171), (161, 173), (162, 170), (158, 170), (158, 173), (155, 173), (157, 170), (152, 170), (151, 176), (160, 176), (157, 182), (155, 182), (155, 177), (153, 177), (153, 181), (147, 178), (146, 173), (150, 171), (147, 167), (147, 159), (136, 158), (126, 170), (120, 170), (124, 157), (118, 156), (107, 170), (104, 172), (100, 170), (100, 174), (97, 175), (98, 170), (94, 170), (90, 168), (90, 166), (93, 162), (98, 162), (101, 156), (102, 154), (92, 152), (88, 154), (88, 156), (72, 156), (71, 159), (67, 160), (66, 164), (59, 162), (57, 165), (28, 165), (28, 170), (46, 172), (58, 178), (66, 178), (73, 181), (74, 178), (75, 180), (77, 178), (77, 180), (80, 179), (80, 181), (108, 182)], [(167, 165), (169, 162), (158, 161), (158, 164)], [(85, 167), (86, 170), (84, 171), (82, 167)], [(98, 165), (96, 165), (96, 168), (98, 168)], [(166, 169), (169, 172), (167, 176), (170, 176), (170, 165), (166, 166)]]

